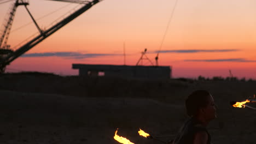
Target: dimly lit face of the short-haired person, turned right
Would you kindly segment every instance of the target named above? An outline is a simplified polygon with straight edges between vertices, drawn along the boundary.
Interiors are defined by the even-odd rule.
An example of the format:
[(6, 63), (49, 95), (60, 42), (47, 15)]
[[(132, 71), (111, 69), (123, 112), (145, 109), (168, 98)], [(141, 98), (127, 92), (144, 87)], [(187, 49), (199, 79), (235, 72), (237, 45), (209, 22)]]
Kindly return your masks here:
[(216, 105), (214, 104), (214, 100), (212, 98), (212, 95), (209, 95), (208, 97), (208, 104), (206, 107), (203, 108), (205, 118), (208, 121), (211, 121), (212, 119), (217, 117), (216, 113)]

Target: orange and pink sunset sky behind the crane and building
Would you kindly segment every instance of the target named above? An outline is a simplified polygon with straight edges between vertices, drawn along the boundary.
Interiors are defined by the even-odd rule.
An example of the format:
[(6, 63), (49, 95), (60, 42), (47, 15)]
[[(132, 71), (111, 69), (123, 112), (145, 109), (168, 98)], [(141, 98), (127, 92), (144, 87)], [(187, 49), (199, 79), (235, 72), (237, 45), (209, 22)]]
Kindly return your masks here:
[[(0, 0), (0, 22), (10, 1)], [(78, 4), (29, 1), (28, 9), (42, 29)], [(135, 65), (141, 52), (159, 65), (170, 65), (173, 77), (229, 76), (256, 79), (256, 1), (103, 0), (65, 27), (15, 59), (7, 71), (42, 71), (78, 75), (72, 63)], [(55, 22), (56, 23), (56, 22)], [(38, 30), (19, 6), (8, 44), (14, 47)], [(21, 45), (18, 45), (19, 47)], [(14, 49), (16, 49), (14, 47)], [(150, 65), (149, 62), (143, 62)]]

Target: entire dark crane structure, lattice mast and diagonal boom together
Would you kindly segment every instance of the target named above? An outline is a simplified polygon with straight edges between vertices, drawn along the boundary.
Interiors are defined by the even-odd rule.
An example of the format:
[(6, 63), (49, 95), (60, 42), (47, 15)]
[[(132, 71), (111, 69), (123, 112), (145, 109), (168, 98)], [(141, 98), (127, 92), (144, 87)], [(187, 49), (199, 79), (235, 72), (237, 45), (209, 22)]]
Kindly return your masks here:
[[(37, 25), (36, 20), (34, 20), (32, 14), (28, 10), (27, 6), (28, 2), (25, 0), (16, 0), (13, 4), (13, 7), (10, 9), (10, 13), (8, 16), (7, 21), (3, 25), (3, 31), (0, 35), (0, 73), (4, 73), (5, 67), (9, 65), (14, 59), (18, 58), (28, 50), (32, 49), (32, 47), (39, 44), (41, 41), (43, 41), (45, 38), (49, 37), (51, 34), (62, 28), (63, 26), (67, 25), (67, 23), (74, 20), (79, 15), (83, 14), (86, 10), (90, 9), (93, 5), (97, 4), (98, 2), (102, 0), (93, 0), (93, 1), (82, 1), (82, 0), (51, 0), (51, 1), (63, 1), (63, 2), (72, 2), (72, 3), (79, 3), (84, 4), (83, 7), (76, 10), (71, 15), (65, 17), (65, 19), (61, 20), (60, 22), (56, 23), (54, 26), (45, 29), (44, 31), (40, 29), (40, 27)], [(11, 25), (13, 23), (15, 11), (19, 5), (24, 5), (26, 10), (28, 11), (28, 14), (31, 16), (34, 24), (37, 26), (38, 31), (40, 32), (39, 35), (28, 41), (26, 44), (22, 45), (18, 49), (11, 50), (10, 45), (7, 45), (7, 40), (9, 37)]]

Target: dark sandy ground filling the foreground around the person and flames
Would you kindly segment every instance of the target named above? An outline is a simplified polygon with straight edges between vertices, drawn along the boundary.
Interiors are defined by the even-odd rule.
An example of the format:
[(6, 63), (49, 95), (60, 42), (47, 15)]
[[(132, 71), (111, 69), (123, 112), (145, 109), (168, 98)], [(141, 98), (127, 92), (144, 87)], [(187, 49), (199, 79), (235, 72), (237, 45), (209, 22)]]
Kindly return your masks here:
[[(13, 78), (0, 77), (0, 80), (5, 82), (10, 79)], [(121, 90), (116, 87), (117, 90), (112, 92), (110, 89), (111, 91), (108, 90), (109, 93), (104, 97), (102, 95), (82, 97), (78, 95), (79, 93), (49, 94), (49, 91), (45, 90), (43, 93), (42, 89), (31, 92), (35, 89), (26, 89), (30, 86), (22, 85), (26, 83), (24, 79), (13, 80), (15, 87), (11, 87), (10, 83), (7, 83), (9, 87), (0, 85), (2, 89), (0, 90), (0, 143), (117, 144), (118, 142), (113, 139), (117, 128), (119, 128), (118, 135), (136, 144), (161, 143), (139, 136), (137, 133), (139, 128), (163, 141), (172, 140), (178, 128), (188, 118), (185, 115), (184, 99), (194, 89), (210, 91), (219, 107), (218, 118), (208, 126), (212, 143), (255, 143), (256, 141), (256, 111), (232, 108), (229, 105), (230, 100), (244, 100), (253, 95), (256, 91), (256, 82), (161, 81), (153, 82), (157, 83), (157, 88), (148, 89), (149, 86), (145, 83), (150, 82), (146, 81), (145, 85), (141, 85), (141, 82), (129, 84), (128, 90), (131, 91), (131, 95), (127, 95), (128, 92), (126, 95), (120, 94), (120, 91), (123, 91), (121, 85), (124, 84), (112, 83), (115, 86), (119, 85)], [(34, 78), (33, 81), (38, 83)], [(22, 91), (16, 83), (19, 83)], [(107, 82), (104, 83), (109, 85)], [(53, 91), (55, 87), (52, 83), (49, 85)], [(135, 86), (136, 88), (131, 88)], [(88, 92), (88, 87), (83, 91), (92, 93)], [(106, 93), (107, 89), (96, 87), (94, 91), (96, 94)], [(155, 91), (159, 91), (159, 95), (156, 95)]]

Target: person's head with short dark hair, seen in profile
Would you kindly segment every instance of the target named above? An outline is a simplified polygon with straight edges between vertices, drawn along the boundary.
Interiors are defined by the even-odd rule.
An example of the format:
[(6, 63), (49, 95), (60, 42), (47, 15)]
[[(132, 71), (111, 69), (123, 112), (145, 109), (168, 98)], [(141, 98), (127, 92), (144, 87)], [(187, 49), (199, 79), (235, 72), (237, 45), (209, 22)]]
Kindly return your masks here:
[(197, 90), (191, 93), (185, 101), (187, 114), (191, 116), (202, 116), (207, 121), (216, 118), (216, 105), (212, 95), (205, 90)]

